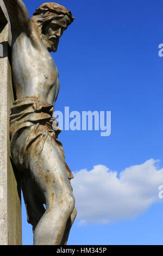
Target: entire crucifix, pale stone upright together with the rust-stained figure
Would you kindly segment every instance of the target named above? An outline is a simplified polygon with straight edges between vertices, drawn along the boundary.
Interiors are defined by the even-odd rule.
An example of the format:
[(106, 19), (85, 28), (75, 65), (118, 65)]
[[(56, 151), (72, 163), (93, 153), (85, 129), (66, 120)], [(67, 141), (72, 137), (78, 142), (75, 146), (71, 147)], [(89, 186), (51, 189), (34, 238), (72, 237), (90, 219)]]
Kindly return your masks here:
[(0, 240), (21, 243), (21, 187), (34, 245), (66, 245), (77, 211), (53, 125), (60, 83), (50, 52), (74, 17), (57, 3), (41, 4), (32, 19), (22, 0), (0, 3)]

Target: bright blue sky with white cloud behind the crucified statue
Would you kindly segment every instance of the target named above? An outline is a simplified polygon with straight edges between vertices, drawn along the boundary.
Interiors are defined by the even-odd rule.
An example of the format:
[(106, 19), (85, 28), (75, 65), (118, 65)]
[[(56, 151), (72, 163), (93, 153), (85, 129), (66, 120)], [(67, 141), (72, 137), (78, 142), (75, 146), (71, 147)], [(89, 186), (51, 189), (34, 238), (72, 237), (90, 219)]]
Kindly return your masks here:
[[(24, 3), (32, 17), (43, 2)], [(68, 245), (162, 245), (163, 208), (156, 195), (163, 185), (163, 57), (158, 56), (163, 3), (58, 3), (76, 19), (62, 35), (58, 52), (52, 53), (61, 84), (55, 110), (111, 111), (109, 137), (101, 137), (100, 131), (62, 131), (59, 136), (75, 172), (79, 209)], [(24, 204), (22, 226), (23, 245), (31, 245)]]

